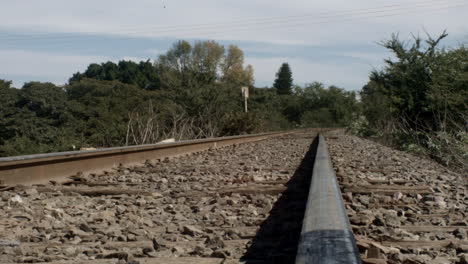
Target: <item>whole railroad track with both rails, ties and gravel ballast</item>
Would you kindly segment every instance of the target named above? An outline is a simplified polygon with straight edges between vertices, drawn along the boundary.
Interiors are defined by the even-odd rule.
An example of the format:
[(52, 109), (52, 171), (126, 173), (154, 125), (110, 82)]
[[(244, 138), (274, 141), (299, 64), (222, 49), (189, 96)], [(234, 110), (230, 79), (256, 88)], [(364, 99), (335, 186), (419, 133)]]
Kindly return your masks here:
[[(432, 260), (449, 262), (417, 262), (411, 251), (415, 241), (389, 239), (396, 232), (395, 217), (364, 219), (374, 207), (393, 210), (398, 206), (381, 197), (394, 200), (399, 193), (396, 197), (402, 195), (401, 201), (414, 191), (424, 197), (433, 195), (433, 189), (394, 174), (361, 177), (359, 173), (380, 172), (369, 166), (351, 170), (348, 163), (356, 162), (359, 155), (352, 154), (352, 143), (345, 144), (349, 137), (330, 132), (327, 141), (338, 186), (325, 140), (315, 136), (309, 130), (178, 143), (173, 152), (169, 144), (77, 156), (29, 156), (9, 159), (3, 176), (0, 162), (0, 179), (8, 183), (0, 191), (0, 263), (460, 261), (466, 238), (435, 243), (439, 249), (453, 248), (455, 256), (449, 252), (451, 258), (438, 255)], [(244, 142), (250, 143), (240, 144)], [(71, 177), (64, 177), (60, 169), (37, 178), (5, 176), (11, 169), (16, 176), (24, 175), (31, 171), (26, 160), (37, 158), (36, 171), (68, 164)], [(102, 167), (93, 162), (95, 158), (103, 162)], [(22, 165), (12, 166), (15, 161)], [(36, 184), (17, 185), (15, 179)], [(366, 197), (369, 206), (362, 205)], [(418, 213), (414, 204), (408, 206)], [(433, 214), (428, 215), (430, 219)], [(411, 227), (400, 227), (421, 233), (427, 231), (427, 223), (415, 218)], [(466, 230), (466, 220), (465, 226), (453, 223), (431, 226), (444, 234)], [(423, 248), (430, 249), (422, 253), (447, 252), (433, 251), (433, 245), (424, 240), (417, 248), (424, 243)]]

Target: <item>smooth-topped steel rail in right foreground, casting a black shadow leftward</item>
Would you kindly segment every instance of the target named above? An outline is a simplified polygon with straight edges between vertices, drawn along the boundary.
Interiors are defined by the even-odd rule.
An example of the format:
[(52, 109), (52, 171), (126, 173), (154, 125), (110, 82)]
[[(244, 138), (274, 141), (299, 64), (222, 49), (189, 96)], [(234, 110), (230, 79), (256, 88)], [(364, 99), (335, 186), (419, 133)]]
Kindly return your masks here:
[(319, 135), (296, 264), (360, 264), (327, 144)]

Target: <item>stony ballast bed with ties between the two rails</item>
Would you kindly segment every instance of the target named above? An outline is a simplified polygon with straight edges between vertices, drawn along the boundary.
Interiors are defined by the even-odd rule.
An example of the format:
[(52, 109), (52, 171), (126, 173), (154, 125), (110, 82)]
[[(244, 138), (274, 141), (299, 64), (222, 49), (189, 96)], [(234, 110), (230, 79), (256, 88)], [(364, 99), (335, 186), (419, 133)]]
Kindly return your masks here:
[[(271, 136), (229, 138), (236, 141), (224, 148), (211, 140), (190, 155), (47, 178), (54, 183), (40, 177), (32, 186), (6, 185), (0, 262), (293, 260), (308, 189), (297, 182), (310, 172), (303, 158), (314, 133)], [(89, 162), (83, 159), (81, 167)], [(285, 208), (294, 213), (281, 215)], [(272, 231), (281, 243), (269, 242)]]

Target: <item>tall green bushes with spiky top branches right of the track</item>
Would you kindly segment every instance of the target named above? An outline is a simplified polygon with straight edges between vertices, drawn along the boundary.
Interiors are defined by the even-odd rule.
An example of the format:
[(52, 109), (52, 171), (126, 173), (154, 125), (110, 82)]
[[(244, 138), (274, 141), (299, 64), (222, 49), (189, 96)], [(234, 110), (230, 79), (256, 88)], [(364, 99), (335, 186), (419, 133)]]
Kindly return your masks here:
[(446, 36), (416, 37), (409, 45), (393, 35), (382, 42), (395, 60), (385, 60), (361, 91), (361, 132), (466, 168), (460, 135), (467, 132), (468, 50), (438, 48)]

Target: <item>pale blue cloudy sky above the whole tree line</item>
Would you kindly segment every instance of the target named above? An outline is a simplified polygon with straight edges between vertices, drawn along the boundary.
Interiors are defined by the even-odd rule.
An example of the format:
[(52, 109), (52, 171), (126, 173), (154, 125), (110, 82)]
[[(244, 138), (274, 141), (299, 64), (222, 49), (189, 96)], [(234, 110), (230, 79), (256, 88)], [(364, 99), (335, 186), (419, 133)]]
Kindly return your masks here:
[(468, 41), (468, 0), (2, 0), (0, 79), (65, 84), (90, 63), (155, 60), (180, 39), (235, 44), (271, 86), (281, 63), (294, 82), (358, 90), (391, 54), (379, 43), (426, 33)]

